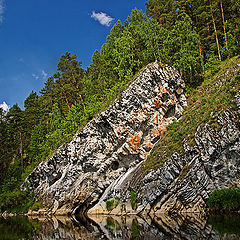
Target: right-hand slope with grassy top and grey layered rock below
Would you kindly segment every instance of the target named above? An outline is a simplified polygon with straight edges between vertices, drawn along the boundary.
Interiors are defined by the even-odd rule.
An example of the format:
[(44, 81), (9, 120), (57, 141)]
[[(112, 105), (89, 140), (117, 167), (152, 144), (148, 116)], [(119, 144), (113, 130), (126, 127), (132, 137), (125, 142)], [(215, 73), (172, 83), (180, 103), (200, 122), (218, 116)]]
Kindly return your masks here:
[(213, 190), (239, 184), (239, 69), (234, 59), (206, 80), (146, 162), (117, 179), (88, 213), (204, 214)]

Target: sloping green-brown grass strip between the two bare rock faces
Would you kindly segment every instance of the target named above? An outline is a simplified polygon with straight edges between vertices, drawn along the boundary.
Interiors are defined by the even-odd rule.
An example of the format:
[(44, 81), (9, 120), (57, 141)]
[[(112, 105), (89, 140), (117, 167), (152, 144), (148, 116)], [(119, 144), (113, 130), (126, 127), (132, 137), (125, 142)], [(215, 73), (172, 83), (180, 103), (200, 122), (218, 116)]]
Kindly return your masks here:
[[(160, 167), (174, 152), (183, 154), (184, 141), (193, 147), (198, 126), (207, 123), (209, 128), (219, 130), (221, 126), (215, 113), (221, 114), (226, 109), (237, 112), (234, 96), (240, 90), (240, 71), (234, 71), (233, 66), (239, 63), (240, 59), (234, 57), (222, 62), (220, 70), (215, 75), (210, 71), (205, 73), (201, 86), (189, 93), (188, 106), (181, 120), (167, 127), (152, 154), (143, 163), (145, 173)], [(237, 116), (239, 117), (238, 114)]]

